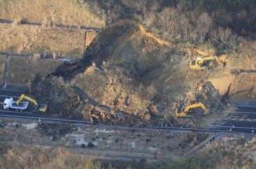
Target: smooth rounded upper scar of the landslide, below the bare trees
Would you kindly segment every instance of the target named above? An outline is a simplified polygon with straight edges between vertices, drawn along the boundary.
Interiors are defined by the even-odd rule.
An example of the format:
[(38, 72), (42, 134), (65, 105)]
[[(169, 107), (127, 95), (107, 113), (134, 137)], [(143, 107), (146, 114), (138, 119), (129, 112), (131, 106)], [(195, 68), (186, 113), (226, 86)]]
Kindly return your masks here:
[(104, 61), (110, 67), (118, 65), (143, 75), (167, 59), (167, 45), (170, 43), (145, 32), (135, 21), (122, 20), (107, 26), (95, 37), (84, 54), (84, 61), (95, 62), (97, 66)]

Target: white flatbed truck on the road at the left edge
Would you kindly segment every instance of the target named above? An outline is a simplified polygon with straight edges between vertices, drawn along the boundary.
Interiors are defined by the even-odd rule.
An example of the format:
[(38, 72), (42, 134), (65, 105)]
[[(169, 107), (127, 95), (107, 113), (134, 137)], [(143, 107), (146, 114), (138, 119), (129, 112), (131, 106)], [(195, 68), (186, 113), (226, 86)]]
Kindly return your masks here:
[(5, 99), (3, 101), (3, 109), (10, 110), (14, 109), (17, 111), (26, 110), (28, 108), (28, 101), (22, 101), (19, 103), (19, 105), (16, 104), (16, 101), (13, 100), (11, 97), (10, 99)]

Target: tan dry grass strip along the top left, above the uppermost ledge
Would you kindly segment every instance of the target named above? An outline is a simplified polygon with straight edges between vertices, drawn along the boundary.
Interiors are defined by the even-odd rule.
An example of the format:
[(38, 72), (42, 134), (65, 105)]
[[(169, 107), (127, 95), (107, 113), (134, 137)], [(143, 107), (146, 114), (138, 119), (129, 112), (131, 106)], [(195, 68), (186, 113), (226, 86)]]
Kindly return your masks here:
[(1, 0), (0, 18), (98, 28), (104, 26), (104, 21), (93, 14), (86, 3), (71, 0)]

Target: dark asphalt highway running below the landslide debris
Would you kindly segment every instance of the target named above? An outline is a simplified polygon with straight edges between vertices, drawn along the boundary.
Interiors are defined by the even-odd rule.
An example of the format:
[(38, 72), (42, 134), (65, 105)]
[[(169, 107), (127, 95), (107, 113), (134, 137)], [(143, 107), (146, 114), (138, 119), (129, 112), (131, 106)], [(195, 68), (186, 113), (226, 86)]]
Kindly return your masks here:
[[(77, 124), (84, 124), (84, 125), (93, 125), (93, 126), (101, 126), (106, 128), (124, 128), (124, 129), (132, 129), (132, 130), (176, 130), (180, 132), (188, 132), (188, 131), (194, 131), (194, 132), (229, 132), (230, 128), (232, 128), (233, 132), (245, 132), (245, 133), (251, 133), (252, 130), (256, 129), (256, 121), (251, 121), (251, 119), (255, 119), (256, 114), (256, 107), (250, 107), (248, 106), (242, 107), (239, 106), (237, 110), (239, 112), (233, 112), (233, 115), (240, 115), (241, 113), (244, 115), (246, 114), (248, 116), (247, 119), (242, 120), (233, 120), (233, 119), (227, 119), (223, 122), (223, 125), (221, 126), (211, 126), (209, 128), (176, 128), (176, 127), (152, 127), (152, 128), (134, 128), (134, 127), (125, 127), (125, 126), (115, 126), (115, 125), (106, 125), (102, 123), (93, 123), (91, 124), (89, 121), (81, 121), (81, 120), (73, 120), (73, 119), (64, 119), (62, 117), (53, 117), (53, 116), (46, 116), (42, 112), (30, 112), (30, 111), (24, 111), (24, 112), (17, 112), (15, 110), (3, 110), (2, 101), (6, 97), (19, 97), (22, 94), (22, 92), (19, 91), (12, 91), (12, 90), (0, 90), (0, 117), (6, 117), (6, 118), (15, 118), (15, 119), (23, 119), (28, 121), (45, 121), (45, 122), (51, 122), (51, 123), (77, 123)], [(248, 113), (246, 113), (249, 111)], [(255, 113), (255, 114), (254, 114)], [(235, 126), (235, 128), (234, 128)]]

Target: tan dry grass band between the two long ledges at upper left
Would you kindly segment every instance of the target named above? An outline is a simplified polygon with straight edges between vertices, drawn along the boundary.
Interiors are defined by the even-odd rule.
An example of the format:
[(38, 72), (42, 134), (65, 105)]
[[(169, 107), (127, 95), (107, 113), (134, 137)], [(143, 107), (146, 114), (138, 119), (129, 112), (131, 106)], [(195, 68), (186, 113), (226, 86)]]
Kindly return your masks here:
[(0, 51), (81, 57), (84, 30), (0, 25)]

